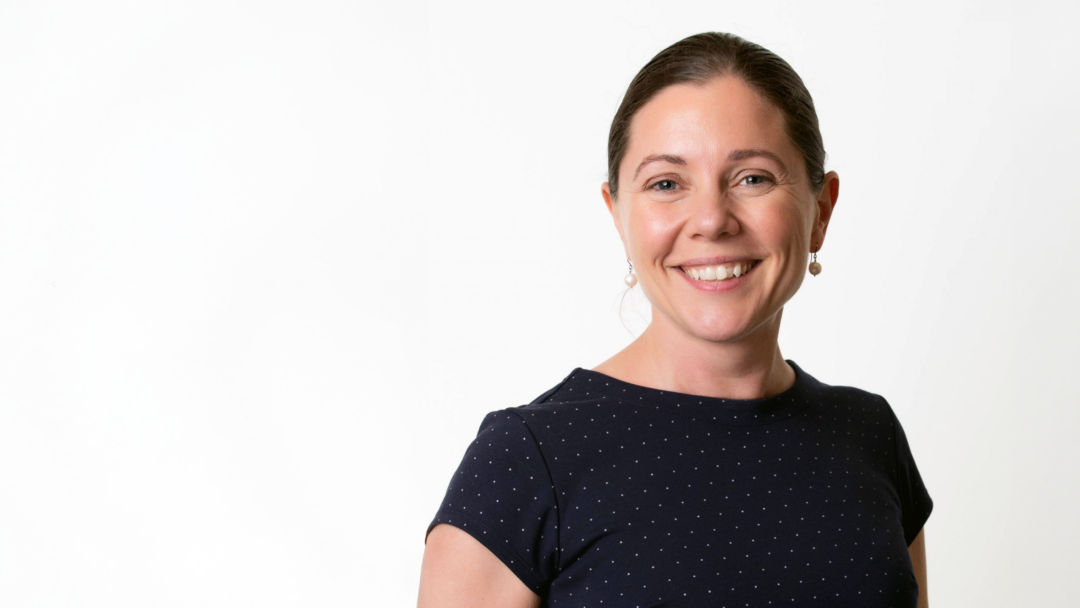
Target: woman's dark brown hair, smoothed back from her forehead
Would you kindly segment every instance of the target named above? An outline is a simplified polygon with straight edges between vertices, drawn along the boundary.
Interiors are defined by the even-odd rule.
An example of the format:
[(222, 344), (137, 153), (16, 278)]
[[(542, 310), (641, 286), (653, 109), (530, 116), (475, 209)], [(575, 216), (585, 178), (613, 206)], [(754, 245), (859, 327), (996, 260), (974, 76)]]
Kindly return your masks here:
[(734, 76), (754, 89), (784, 116), (787, 136), (802, 153), (810, 186), (825, 181), (825, 146), (818, 112), (802, 79), (771, 51), (733, 33), (706, 31), (664, 49), (637, 72), (626, 89), (608, 134), (608, 184), (619, 189), (619, 165), (630, 141), (630, 121), (664, 87), (690, 82), (704, 84), (719, 76)]

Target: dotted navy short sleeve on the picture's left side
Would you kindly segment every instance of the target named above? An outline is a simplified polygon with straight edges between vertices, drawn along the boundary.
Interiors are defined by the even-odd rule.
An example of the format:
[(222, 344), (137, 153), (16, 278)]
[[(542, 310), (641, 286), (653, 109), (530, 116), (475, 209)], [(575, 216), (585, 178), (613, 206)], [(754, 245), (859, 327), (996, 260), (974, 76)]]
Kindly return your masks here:
[(536, 437), (513, 408), (484, 417), (424, 542), (438, 524), (469, 532), (530, 590), (545, 592), (557, 568), (555, 489)]

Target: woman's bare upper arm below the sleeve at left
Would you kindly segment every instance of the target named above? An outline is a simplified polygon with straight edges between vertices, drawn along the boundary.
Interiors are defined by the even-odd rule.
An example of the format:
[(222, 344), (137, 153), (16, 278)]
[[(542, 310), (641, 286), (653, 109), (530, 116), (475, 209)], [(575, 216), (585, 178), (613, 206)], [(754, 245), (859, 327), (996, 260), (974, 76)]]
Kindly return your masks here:
[(448, 524), (431, 529), (420, 567), (417, 608), (539, 606), (540, 596), (472, 535)]

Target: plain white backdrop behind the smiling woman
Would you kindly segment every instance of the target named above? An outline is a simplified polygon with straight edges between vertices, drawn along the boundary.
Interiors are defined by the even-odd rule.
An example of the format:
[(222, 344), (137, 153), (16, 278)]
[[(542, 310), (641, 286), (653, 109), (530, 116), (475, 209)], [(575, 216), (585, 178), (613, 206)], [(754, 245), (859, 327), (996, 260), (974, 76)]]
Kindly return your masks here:
[(492, 409), (648, 321), (631, 78), (730, 31), (840, 197), (785, 357), (885, 395), (936, 606), (1075, 606), (1065, 2), (0, 0), (0, 606), (410, 606)]

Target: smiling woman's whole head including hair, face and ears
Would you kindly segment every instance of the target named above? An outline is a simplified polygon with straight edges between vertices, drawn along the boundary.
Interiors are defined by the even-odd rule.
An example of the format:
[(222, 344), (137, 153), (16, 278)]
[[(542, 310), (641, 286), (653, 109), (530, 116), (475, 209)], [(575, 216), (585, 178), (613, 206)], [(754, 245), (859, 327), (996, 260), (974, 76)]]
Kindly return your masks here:
[(634, 78), (608, 156), (604, 199), (661, 323), (710, 341), (779, 330), (839, 187), (798, 75), (731, 35), (687, 38)]

